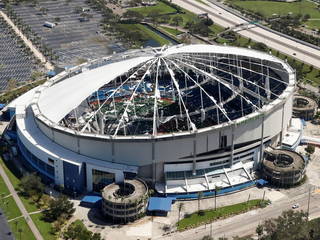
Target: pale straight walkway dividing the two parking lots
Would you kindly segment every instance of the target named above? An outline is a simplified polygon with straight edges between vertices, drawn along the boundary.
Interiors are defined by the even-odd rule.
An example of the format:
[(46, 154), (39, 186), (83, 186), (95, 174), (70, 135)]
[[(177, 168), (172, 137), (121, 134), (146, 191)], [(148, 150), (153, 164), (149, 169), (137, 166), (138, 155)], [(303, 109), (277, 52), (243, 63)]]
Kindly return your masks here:
[(45, 56), (33, 45), (33, 43), (20, 31), (20, 29), (11, 21), (11, 19), (1, 10), (0, 10), (0, 16), (3, 17), (3, 19), (9, 24), (9, 26), (13, 28), (17, 36), (24, 41), (27, 47), (31, 49), (34, 56), (38, 58), (42, 63), (44, 63), (44, 66), (47, 68), (47, 70), (53, 70), (54, 66), (49, 61), (47, 61)]

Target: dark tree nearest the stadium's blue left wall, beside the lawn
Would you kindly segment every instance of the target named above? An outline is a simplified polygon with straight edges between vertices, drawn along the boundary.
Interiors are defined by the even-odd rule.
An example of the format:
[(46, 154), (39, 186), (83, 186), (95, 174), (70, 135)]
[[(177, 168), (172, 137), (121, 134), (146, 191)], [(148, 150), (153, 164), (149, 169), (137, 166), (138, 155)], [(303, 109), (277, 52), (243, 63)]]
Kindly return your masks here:
[(44, 192), (44, 185), (41, 182), (41, 178), (35, 173), (23, 176), (19, 188), (24, 195), (34, 197), (35, 202), (41, 199)]

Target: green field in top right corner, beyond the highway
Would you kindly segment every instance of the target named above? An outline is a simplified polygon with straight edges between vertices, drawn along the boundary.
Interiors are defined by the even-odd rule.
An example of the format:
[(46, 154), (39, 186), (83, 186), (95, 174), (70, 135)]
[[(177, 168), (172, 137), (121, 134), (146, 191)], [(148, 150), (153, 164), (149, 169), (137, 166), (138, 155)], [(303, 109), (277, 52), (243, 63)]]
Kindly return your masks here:
[[(308, 0), (302, 0), (301, 2), (276, 2), (276, 1), (240, 1), (230, 0), (233, 4), (250, 10), (252, 12), (259, 12), (264, 17), (272, 17), (272, 14), (288, 15), (291, 12), (294, 15), (297, 14), (310, 14), (309, 21), (306, 22), (310, 28), (320, 27), (320, 11), (317, 10), (317, 5)], [(313, 20), (314, 19), (314, 20)]]

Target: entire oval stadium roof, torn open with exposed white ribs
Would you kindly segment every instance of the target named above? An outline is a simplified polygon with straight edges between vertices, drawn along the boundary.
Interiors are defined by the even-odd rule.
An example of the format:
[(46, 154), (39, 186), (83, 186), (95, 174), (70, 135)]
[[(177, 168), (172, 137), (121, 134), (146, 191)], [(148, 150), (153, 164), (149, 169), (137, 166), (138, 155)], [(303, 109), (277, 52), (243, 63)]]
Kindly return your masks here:
[(294, 76), (285, 62), (251, 49), (134, 50), (58, 74), (34, 94), (32, 109), (49, 126), (78, 134), (165, 137), (268, 111), (290, 95)]

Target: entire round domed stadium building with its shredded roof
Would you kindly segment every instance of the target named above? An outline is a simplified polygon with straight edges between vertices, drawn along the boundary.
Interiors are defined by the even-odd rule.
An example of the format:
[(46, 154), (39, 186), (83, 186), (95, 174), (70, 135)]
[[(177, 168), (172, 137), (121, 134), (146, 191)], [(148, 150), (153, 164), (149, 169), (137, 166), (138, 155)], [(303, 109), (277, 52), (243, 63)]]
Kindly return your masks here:
[(252, 182), (290, 126), (295, 73), (228, 46), (132, 50), (62, 72), (16, 104), (26, 165), (74, 192), (140, 177), (160, 193)]

